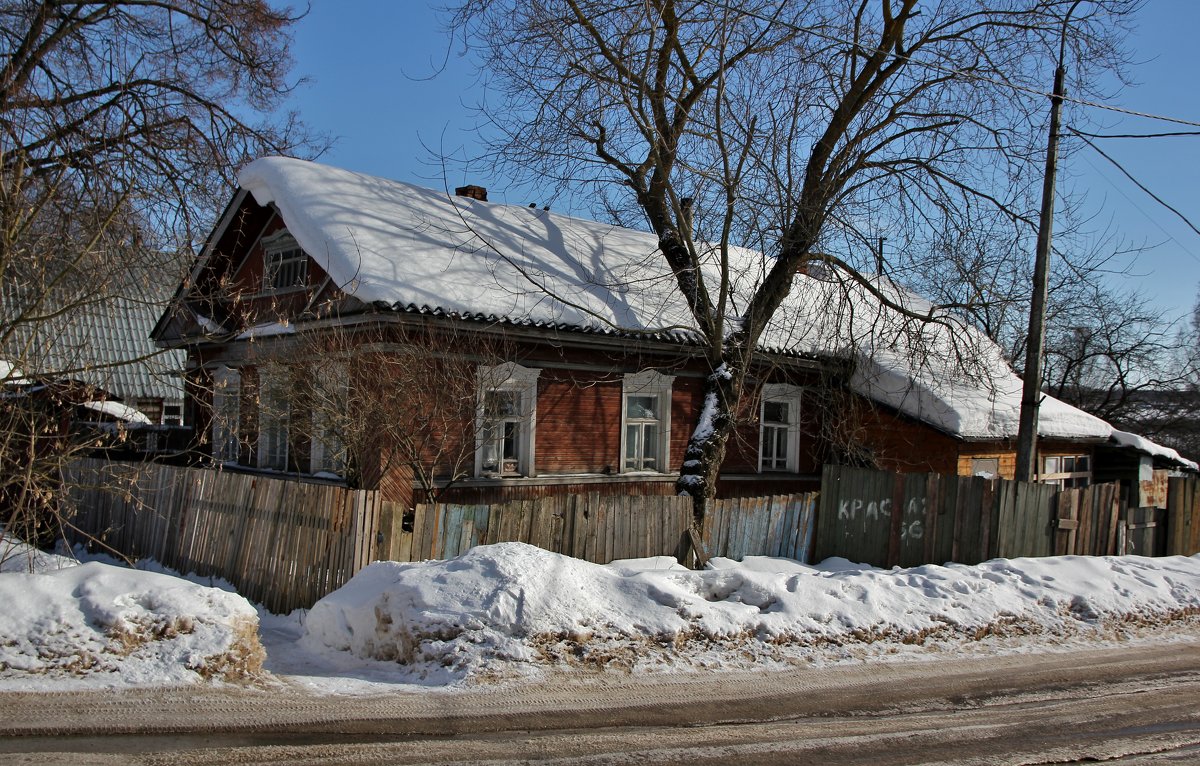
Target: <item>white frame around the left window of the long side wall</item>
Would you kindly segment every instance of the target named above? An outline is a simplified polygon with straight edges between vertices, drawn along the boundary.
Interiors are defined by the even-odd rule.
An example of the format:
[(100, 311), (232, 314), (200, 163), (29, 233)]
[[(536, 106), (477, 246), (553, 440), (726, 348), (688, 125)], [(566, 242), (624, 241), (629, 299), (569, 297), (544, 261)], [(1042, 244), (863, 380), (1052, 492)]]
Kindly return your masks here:
[[(536, 475), (536, 463), (534, 462), (536, 447), (538, 426), (538, 376), (541, 370), (524, 367), (514, 361), (496, 365), (494, 367), (480, 367), (479, 370), (479, 396), (475, 402), (475, 478), (506, 478), (506, 477), (533, 477)], [(515, 471), (485, 469), (485, 457), (488, 449), (488, 413), (487, 395), (492, 393), (516, 394), (518, 400), (518, 412), (514, 418), (506, 418), (517, 426), (517, 460)], [(496, 437), (497, 443), (503, 439)], [(496, 444), (492, 444), (496, 447)], [(503, 449), (503, 448), (502, 448)], [(503, 463), (503, 456), (499, 459)]]

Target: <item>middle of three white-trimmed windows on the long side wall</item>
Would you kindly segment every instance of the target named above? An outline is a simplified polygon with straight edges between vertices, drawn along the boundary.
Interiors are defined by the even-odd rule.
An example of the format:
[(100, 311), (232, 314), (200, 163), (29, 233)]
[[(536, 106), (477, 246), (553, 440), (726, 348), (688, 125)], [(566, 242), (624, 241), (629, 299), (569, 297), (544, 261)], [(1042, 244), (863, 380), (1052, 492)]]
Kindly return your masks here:
[(671, 385), (655, 370), (631, 372), (622, 382), (620, 469), (666, 473), (670, 466)]

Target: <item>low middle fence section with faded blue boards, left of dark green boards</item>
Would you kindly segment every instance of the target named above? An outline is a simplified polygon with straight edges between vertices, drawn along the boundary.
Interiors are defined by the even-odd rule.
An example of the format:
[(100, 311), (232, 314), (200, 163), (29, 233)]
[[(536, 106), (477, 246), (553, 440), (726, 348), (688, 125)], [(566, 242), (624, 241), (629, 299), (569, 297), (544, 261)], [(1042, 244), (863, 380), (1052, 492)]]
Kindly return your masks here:
[[(817, 493), (719, 499), (701, 540), (707, 556), (811, 555)], [(386, 511), (395, 514), (398, 508)], [(667, 496), (569, 495), (485, 504), (418, 505), (412, 529), (385, 531), (394, 561), (452, 558), (480, 544), (522, 541), (548, 551), (607, 563), (674, 556), (691, 540), (691, 501)]]

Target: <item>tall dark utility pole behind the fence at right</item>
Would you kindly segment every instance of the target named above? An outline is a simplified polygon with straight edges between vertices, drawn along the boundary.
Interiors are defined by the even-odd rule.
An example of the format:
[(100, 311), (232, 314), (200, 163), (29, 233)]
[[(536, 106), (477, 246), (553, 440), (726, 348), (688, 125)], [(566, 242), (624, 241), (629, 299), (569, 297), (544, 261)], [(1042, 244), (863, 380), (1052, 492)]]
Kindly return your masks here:
[(1016, 480), (1032, 481), (1038, 474), (1038, 408), (1042, 406), (1042, 359), (1045, 347), (1046, 285), (1050, 281), (1050, 240), (1054, 231), (1054, 190), (1058, 169), (1058, 118), (1066, 95), (1067, 24), (1082, 0), (1075, 0), (1062, 20), (1058, 37), (1058, 66), (1050, 96), (1050, 137), (1046, 140), (1045, 175), (1042, 180), (1042, 211), (1038, 219), (1038, 250), (1033, 263), (1033, 298), (1030, 301), (1030, 331), (1025, 341), (1025, 384), (1021, 387), (1021, 419), (1016, 432)]

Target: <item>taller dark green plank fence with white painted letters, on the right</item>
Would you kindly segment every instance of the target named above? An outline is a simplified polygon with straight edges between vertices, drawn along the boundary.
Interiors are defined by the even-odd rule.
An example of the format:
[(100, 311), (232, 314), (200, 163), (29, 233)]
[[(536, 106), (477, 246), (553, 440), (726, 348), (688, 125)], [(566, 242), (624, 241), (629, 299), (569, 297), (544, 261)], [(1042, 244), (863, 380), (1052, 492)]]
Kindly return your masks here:
[[(1200, 550), (1196, 480), (1171, 479), (1174, 510), (1128, 508), (1117, 484), (1043, 484), (826, 466), (816, 558), (878, 567), (1019, 556), (1156, 556)], [(1189, 483), (1192, 495), (1187, 495)], [(1171, 523), (1166, 523), (1166, 519)], [(1189, 547), (1190, 546), (1190, 547)]]

